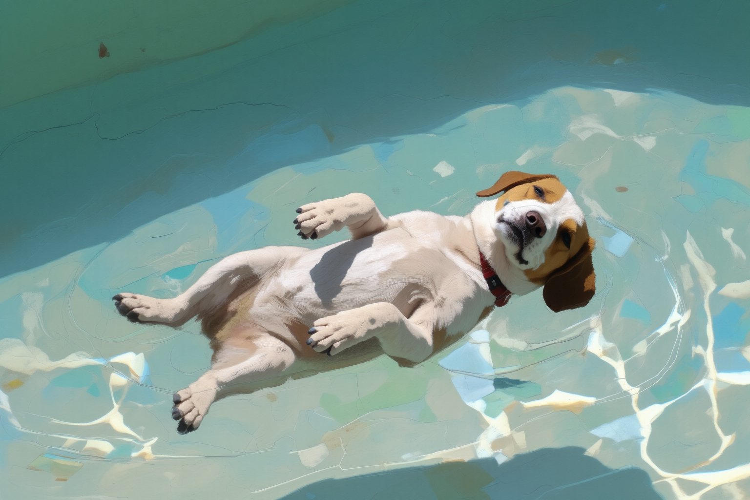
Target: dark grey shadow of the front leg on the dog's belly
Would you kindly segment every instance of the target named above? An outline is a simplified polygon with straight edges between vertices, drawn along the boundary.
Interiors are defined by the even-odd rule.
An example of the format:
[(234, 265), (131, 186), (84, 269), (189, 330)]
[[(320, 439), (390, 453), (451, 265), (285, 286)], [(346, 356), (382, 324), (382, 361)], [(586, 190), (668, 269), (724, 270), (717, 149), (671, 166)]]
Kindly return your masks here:
[(324, 307), (332, 308), (333, 300), (343, 289), (344, 277), (352, 267), (357, 254), (372, 246), (374, 236), (344, 241), (323, 253), (320, 262), (310, 270), (315, 292)]

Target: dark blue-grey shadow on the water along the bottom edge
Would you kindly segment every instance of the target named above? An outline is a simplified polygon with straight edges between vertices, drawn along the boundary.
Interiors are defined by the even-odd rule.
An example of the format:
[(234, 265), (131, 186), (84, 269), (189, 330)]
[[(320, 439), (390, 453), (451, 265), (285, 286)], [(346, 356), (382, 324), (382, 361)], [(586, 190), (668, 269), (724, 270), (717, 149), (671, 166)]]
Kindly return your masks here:
[(613, 470), (583, 448), (542, 448), (498, 465), (491, 458), (326, 479), (284, 500), (661, 499), (641, 469)]

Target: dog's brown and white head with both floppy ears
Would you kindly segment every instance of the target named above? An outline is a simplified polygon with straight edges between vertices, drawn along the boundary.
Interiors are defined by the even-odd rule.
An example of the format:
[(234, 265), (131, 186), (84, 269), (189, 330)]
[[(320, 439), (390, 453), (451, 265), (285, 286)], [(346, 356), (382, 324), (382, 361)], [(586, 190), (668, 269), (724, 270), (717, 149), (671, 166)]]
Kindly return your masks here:
[(503, 193), (495, 205), (494, 232), (511, 265), (544, 286), (555, 312), (583, 307), (594, 295), (594, 267), (583, 211), (554, 175), (505, 172), (477, 196)]

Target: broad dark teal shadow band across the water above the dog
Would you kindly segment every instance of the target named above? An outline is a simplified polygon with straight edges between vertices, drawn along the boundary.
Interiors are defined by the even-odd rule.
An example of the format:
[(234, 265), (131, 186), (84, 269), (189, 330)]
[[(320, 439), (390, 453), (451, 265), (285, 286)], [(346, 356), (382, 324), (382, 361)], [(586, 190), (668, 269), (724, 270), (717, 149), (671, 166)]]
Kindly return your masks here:
[(0, 276), (282, 166), (562, 85), (748, 105), (748, 15), (746, 1), (352, 1), (18, 103), (0, 113)]

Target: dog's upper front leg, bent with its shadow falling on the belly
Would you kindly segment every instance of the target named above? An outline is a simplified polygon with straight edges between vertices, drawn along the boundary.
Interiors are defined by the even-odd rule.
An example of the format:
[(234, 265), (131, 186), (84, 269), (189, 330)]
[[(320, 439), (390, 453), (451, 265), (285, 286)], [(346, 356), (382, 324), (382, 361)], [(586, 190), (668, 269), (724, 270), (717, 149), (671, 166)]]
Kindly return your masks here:
[(362, 193), (347, 194), (341, 198), (308, 203), (297, 208), (299, 215), (293, 221), (302, 239), (323, 238), (334, 231), (349, 228), (352, 239), (383, 231), (388, 219), (380, 214), (370, 196)]

